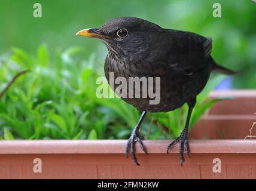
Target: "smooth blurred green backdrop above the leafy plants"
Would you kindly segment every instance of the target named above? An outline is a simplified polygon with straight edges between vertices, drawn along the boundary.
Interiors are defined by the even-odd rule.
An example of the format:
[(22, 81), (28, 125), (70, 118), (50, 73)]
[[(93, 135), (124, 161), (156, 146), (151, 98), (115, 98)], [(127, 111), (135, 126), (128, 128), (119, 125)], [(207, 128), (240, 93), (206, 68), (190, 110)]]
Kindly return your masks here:
[[(256, 87), (256, 4), (250, 0), (223, 1), (36, 1), (42, 18), (33, 17), (35, 1), (0, 2), (0, 54), (19, 47), (35, 53), (40, 44), (57, 48), (84, 47), (83, 58), (96, 53), (102, 63), (106, 48), (100, 41), (75, 36), (78, 30), (98, 27), (106, 20), (133, 16), (165, 28), (189, 30), (213, 39), (212, 56), (223, 66), (242, 70), (234, 88)], [(212, 17), (212, 5), (221, 4), (221, 18)], [(102, 68), (100, 68), (102, 69)]]

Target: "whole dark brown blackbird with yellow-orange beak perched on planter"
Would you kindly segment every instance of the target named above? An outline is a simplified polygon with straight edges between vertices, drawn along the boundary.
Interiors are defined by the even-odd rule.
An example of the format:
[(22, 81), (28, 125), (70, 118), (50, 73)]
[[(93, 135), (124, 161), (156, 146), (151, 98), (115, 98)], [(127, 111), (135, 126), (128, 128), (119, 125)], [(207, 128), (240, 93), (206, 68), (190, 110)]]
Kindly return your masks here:
[[(142, 112), (138, 124), (132, 131), (126, 145), (133, 161), (139, 165), (135, 155), (135, 143), (147, 154), (139, 134), (139, 127), (147, 112), (168, 112), (188, 104), (188, 115), (184, 130), (168, 146), (167, 153), (179, 142), (181, 165), (185, 161), (184, 148), (190, 157), (188, 147), (188, 126), (196, 96), (203, 90), (212, 71), (232, 75), (230, 69), (219, 66), (211, 57), (212, 39), (193, 32), (163, 29), (150, 21), (135, 17), (118, 17), (106, 21), (99, 28), (84, 29), (80, 36), (98, 38), (108, 48), (105, 60), (105, 76), (109, 82), (109, 73), (114, 78), (124, 77), (160, 77), (160, 101), (150, 104), (150, 97), (121, 97)], [(116, 86), (111, 88), (115, 90)], [(156, 90), (156, 88), (154, 88)], [(127, 89), (128, 93), (129, 89)]]

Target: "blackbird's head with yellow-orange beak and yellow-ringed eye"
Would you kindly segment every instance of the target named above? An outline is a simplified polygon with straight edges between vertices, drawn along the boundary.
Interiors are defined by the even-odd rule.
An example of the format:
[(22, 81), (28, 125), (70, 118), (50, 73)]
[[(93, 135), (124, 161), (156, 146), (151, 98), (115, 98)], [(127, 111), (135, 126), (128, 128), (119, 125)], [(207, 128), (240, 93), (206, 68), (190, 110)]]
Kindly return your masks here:
[(163, 30), (157, 24), (135, 17), (118, 17), (106, 21), (97, 29), (80, 30), (77, 35), (98, 38), (105, 42), (109, 53), (120, 57), (143, 54), (156, 33)]

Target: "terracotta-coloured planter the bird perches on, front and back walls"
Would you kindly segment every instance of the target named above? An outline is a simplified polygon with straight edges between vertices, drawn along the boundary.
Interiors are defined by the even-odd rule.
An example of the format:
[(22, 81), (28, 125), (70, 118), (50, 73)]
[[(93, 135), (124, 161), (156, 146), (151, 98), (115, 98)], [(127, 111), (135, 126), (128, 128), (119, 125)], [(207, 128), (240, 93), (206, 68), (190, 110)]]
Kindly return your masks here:
[[(136, 147), (140, 167), (125, 158), (126, 140), (1, 141), (0, 178), (256, 178), (256, 140), (242, 139), (256, 122), (256, 91), (212, 97), (220, 94), (236, 101), (216, 104), (193, 128), (184, 167), (178, 145), (166, 155), (170, 140), (145, 140), (150, 155)], [(213, 140), (193, 140), (204, 137)], [(34, 159), (42, 162), (42, 172), (33, 171)], [(216, 160), (219, 172), (214, 172)]]

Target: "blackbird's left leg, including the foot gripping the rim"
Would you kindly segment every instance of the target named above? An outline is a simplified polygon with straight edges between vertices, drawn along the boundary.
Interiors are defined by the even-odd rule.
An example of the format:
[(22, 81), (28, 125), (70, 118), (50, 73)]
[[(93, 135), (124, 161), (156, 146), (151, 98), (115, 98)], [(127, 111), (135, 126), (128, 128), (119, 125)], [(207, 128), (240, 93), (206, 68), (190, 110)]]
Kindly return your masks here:
[(135, 155), (135, 143), (136, 143), (136, 141), (139, 142), (139, 145), (141, 146), (141, 150), (143, 150), (148, 155), (147, 150), (144, 147), (144, 144), (142, 143), (142, 140), (144, 140), (144, 137), (142, 137), (141, 134), (139, 134), (139, 127), (141, 126), (141, 123), (142, 123), (146, 113), (147, 112), (145, 112), (145, 111), (142, 112), (142, 114), (139, 118), (138, 124), (136, 125), (136, 127), (132, 131), (132, 134), (130, 135), (130, 138), (127, 141), (127, 144), (126, 144), (126, 152), (125, 152), (126, 157), (128, 158), (129, 149), (130, 149), (130, 153), (132, 153), (132, 159), (136, 163), (136, 165), (138, 165), (138, 166), (139, 166), (139, 163), (138, 163), (136, 155)]

